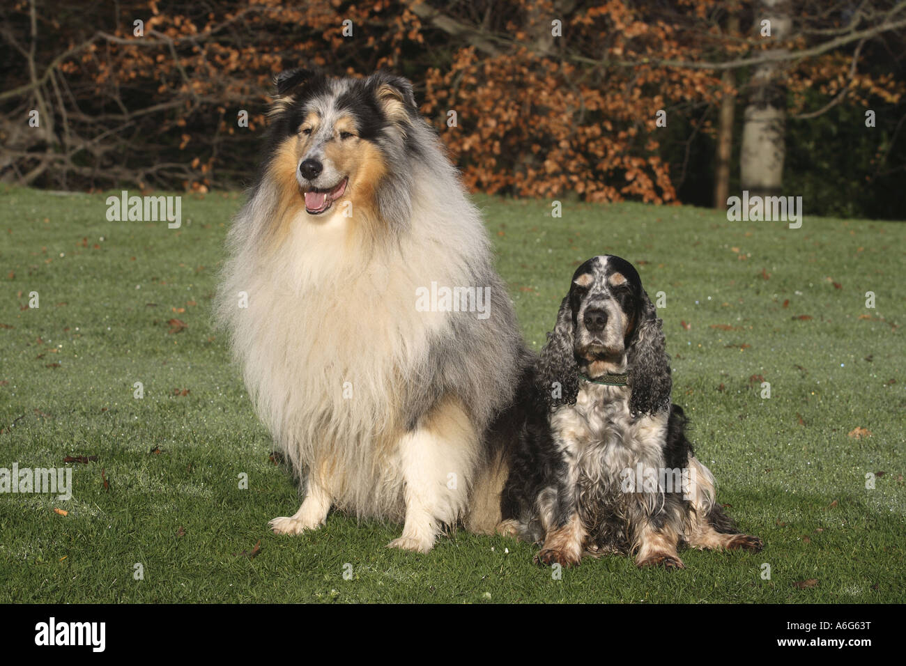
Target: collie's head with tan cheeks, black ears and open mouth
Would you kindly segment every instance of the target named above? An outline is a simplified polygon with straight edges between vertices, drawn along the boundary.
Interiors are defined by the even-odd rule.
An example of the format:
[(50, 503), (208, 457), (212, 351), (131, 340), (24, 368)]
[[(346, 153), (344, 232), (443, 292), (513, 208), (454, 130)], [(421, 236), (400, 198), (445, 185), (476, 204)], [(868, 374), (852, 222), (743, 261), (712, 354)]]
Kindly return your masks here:
[(412, 84), (388, 72), (365, 79), (290, 70), (275, 79), (263, 178), (285, 218), (365, 218), (399, 230), (409, 222), (413, 162), (429, 127)]

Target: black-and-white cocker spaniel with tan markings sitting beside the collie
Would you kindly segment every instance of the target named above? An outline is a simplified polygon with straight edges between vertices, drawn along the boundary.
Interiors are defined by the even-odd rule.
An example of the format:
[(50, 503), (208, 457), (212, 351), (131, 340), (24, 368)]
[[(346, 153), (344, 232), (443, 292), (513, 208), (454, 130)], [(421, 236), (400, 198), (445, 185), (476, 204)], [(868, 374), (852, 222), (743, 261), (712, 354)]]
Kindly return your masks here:
[(661, 320), (619, 256), (579, 266), (535, 369), (535, 416), (501, 496), (499, 531), (541, 544), (535, 562), (631, 553), (682, 568), (679, 545), (758, 551), (715, 499), (670, 402)]

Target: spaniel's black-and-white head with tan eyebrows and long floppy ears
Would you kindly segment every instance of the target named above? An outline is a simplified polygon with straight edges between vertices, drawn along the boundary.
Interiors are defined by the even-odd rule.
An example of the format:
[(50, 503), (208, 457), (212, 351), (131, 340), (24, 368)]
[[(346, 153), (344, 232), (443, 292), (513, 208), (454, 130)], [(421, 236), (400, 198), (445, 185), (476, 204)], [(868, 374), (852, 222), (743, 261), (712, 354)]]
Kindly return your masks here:
[[(625, 381), (630, 410), (670, 407), (670, 357), (641, 278), (619, 256), (595, 256), (573, 274), (541, 352), (539, 390), (549, 406), (573, 403), (583, 381)], [(617, 375), (613, 377), (613, 375)]]

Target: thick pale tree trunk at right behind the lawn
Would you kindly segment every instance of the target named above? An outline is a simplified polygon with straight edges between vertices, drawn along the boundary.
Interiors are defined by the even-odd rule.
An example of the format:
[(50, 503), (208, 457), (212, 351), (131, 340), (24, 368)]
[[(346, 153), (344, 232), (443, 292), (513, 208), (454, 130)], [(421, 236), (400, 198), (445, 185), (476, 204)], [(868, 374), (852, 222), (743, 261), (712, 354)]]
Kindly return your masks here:
[[(789, 0), (759, 2), (755, 29), (760, 33), (765, 20), (770, 21), (771, 29), (771, 36), (762, 39), (781, 42), (789, 38), (793, 28), (789, 9)], [(769, 53), (782, 56), (786, 49), (777, 48)], [(786, 90), (778, 81), (779, 69), (779, 63), (758, 65), (749, 82), (739, 171), (742, 188), (750, 195), (777, 195), (783, 187)]]

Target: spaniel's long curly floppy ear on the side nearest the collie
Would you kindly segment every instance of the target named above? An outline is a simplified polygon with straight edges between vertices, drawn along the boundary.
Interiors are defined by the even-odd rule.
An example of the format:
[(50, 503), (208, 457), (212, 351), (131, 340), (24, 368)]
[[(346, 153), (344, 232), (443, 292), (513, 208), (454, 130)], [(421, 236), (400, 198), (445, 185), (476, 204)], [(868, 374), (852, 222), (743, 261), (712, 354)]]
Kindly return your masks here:
[(579, 367), (573, 353), (573, 309), (567, 294), (560, 304), (553, 333), (541, 350), (536, 390), (549, 410), (561, 404), (573, 404), (579, 394)]

